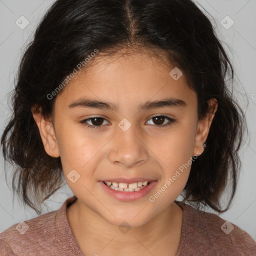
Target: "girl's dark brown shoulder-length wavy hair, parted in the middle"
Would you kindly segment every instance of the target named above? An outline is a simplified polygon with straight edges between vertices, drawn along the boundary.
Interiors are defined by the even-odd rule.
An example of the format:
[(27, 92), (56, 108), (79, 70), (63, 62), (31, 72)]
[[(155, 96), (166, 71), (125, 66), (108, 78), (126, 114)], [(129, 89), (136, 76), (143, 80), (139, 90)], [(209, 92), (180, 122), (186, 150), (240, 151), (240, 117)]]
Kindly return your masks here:
[[(198, 119), (210, 110), (207, 100), (217, 99), (206, 147), (192, 162), (183, 196), (192, 204), (225, 211), (236, 189), (238, 149), (246, 122), (227, 88), (228, 82), (233, 85), (230, 60), (211, 22), (191, 0), (53, 3), (22, 56), (11, 97), (13, 114), (1, 137), (4, 159), (14, 167), (13, 190), (40, 213), (40, 203), (64, 181), (60, 157), (45, 152), (31, 106), (36, 105), (42, 116), (50, 118), (56, 96), (48, 99), (47, 95), (78, 63), (94, 49), (114, 54), (125, 46), (162, 52), (175, 63), (197, 94)], [(230, 199), (221, 210), (220, 196), (228, 181), (232, 184)]]

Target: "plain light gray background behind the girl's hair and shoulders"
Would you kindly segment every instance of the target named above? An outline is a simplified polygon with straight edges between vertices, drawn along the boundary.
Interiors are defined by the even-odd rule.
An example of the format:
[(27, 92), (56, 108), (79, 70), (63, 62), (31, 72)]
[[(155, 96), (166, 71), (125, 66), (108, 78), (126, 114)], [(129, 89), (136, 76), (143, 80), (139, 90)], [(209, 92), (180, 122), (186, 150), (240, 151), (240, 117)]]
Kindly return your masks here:
[[(1, 133), (10, 115), (6, 94), (14, 87), (14, 75), (20, 60), (25, 43), (32, 38), (32, 33), (45, 10), (53, 0), (0, 0), (0, 130)], [(213, 22), (218, 37), (225, 42), (224, 48), (234, 65), (235, 93), (240, 105), (246, 111), (249, 126), (249, 137), (244, 141), (240, 156), (242, 169), (235, 198), (231, 208), (220, 214), (226, 219), (248, 232), (256, 240), (256, 0), (198, 0), (199, 8), (208, 11), (215, 21)], [(200, 5), (202, 6), (200, 6)], [(206, 13), (208, 16), (208, 14)], [(222, 22), (234, 24), (227, 29)], [(29, 24), (21, 29), (15, 23), (25, 16)], [(24, 21), (24, 20), (23, 20)], [(25, 23), (22, 21), (22, 24)], [(214, 23), (215, 22), (215, 23)], [(248, 97), (248, 102), (246, 99)], [(246, 106), (248, 103), (248, 106)], [(10, 167), (6, 166), (8, 170)], [(4, 176), (2, 154), (0, 156), (0, 232), (14, 223), (37, 216), (29, 209), (23, 208), (16, 196), (12, 197), (11, 182), (8, 185)], [(63, 201), (72, 196), (67, 187), (59, 190), (50, 197), (43, 213), (58, 209)], [(224, 198), (224, 197), (223, 197)]]

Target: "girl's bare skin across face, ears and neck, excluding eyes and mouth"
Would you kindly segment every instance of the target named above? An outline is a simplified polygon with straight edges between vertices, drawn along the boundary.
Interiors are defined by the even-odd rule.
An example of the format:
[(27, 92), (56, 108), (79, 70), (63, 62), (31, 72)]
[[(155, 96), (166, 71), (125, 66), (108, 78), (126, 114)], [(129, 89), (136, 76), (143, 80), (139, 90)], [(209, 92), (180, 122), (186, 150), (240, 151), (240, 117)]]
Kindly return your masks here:
[[(53, 119), (33, 112), (45, 151), (60, 156), (66, 182), (77, 196), (67, 208), (67, 218), (86, 255), (156, 256), (177, 251), (182, 210), (174, 200), (186, 184), (190, 166), (154, 202), (148, 197), (189, 157), (203, 152), (217, 104), (209, 100), (213, 111), (198, 121), (197, 95), (187, 86), (185, 75), (176, 81), (169, 75), (172, 68), (141, 52), (95, 57), (93, 65), (78, 72), (57, 95)], [(119, 104), (119, 109), (68, 108), (83, 97)], [(137, 110), (147, 100), (166, 97), (182, 99), (187, 106)], [(95, 115), (106, 119), (100, 128), (79, 123)], [(160, 128), (153, 115), (176, 121)], [(131, 123), (126, 131), (118, 127), (123, 118)], [(87, 123), (95, 125), (91, 120)], [(74, 183), (67, 178), (71, 169), (80, 175)], [(98, 183), (110, 177), (137, 176), (157, 183), (135, 201), (113, 198)], [(131, 227), (127, 233), (118, 229), (123, 221)]]

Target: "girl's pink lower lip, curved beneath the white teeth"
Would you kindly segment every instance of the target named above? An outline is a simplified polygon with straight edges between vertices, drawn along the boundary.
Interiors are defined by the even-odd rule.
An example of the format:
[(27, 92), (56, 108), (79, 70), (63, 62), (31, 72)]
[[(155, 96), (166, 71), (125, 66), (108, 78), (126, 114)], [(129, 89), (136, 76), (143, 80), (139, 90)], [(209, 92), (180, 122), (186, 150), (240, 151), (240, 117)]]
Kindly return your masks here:
[(148, 194), (149, 191), (152, 189), (152, 187), (156, 184), (156, 182), (157, 182), (156, 180), (152, 180), (147, 186), (134, 192), (114, 190), (108, 187), (107, 185), (105, 185), (102, 180), (99, 181), (99, 184), (106, 191), (106, 193), (108, 193), (109, 195), (111, 195), (112, 197), (120, 201), (134, 201)]

